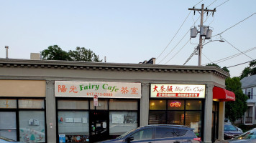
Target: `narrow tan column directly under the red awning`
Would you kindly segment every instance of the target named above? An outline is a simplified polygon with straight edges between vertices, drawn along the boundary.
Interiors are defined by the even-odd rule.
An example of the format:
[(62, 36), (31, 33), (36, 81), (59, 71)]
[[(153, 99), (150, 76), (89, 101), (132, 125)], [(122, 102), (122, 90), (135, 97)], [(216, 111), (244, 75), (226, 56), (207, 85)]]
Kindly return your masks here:
[(224, 140), (225, 102), (219, 102), (219, 132), (218, 139)]

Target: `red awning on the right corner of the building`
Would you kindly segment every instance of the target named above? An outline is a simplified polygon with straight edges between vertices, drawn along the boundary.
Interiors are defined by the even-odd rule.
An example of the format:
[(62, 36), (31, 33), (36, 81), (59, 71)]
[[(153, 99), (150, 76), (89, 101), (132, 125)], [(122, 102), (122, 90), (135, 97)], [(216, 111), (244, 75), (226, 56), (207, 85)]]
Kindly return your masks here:
[(229, 102), (236, 100), (234, 92), (230, 92), (226, 89), (221, 89), (220, 87), (214, 87), (213, 91), (213, 99), (219, 99), (220, 102)]

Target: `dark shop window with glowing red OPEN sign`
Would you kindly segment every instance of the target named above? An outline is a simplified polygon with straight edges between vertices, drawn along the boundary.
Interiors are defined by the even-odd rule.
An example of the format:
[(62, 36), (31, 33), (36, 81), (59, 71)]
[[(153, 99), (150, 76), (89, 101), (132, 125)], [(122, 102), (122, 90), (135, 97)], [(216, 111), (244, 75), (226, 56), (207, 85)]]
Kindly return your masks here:
[(186, 125), (201, 137), (202, 107), (202, 100), (150, 99), (149, 124)]

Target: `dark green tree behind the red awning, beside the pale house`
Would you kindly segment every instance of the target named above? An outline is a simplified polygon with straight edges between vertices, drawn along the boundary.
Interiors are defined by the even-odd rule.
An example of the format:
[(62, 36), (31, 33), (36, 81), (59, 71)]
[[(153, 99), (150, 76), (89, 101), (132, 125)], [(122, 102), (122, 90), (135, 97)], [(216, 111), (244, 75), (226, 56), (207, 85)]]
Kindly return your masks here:
[(242, 84), (239, 77), (228, 77), (225, 84), (226, 89), (234, 92), (236, 95), (236, 100), (234, 102), (226, 102), (225, 105), (225, 117), (231, 122), (234, 122), (246, 112), (248, 97), (242, 93)]

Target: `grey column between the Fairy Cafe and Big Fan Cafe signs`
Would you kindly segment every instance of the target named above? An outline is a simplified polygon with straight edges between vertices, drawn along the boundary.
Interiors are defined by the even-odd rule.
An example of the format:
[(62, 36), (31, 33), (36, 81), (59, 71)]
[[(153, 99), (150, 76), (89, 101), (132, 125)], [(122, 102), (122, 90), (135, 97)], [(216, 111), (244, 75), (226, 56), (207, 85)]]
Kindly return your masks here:
[(148, 125), (150, 103), (150, 84), (142, 83), (142, 97), (140, 99), (140, 126)]

